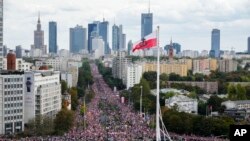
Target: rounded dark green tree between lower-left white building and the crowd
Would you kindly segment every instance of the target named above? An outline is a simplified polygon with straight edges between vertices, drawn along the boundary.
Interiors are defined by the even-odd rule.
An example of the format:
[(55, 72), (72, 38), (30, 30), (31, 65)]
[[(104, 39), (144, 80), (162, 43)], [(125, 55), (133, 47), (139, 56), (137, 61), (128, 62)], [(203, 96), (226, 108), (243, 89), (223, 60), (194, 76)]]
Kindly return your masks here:
[(62, 109), (57, 113), (55, 119), (55, 132), (62, 135), (64, 132), (69, 131), (74, 123), (74, 113), (67, 109)]

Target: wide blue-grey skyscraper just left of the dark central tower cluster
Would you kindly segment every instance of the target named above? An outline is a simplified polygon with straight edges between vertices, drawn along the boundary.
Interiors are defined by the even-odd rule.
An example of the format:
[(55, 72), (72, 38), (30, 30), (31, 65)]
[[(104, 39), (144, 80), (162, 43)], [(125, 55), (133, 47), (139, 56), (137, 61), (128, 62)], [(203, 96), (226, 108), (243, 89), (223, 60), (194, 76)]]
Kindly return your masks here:
[(75, 28), (70, 28), (70, 52), (80, 53), (83, 49), (86, 49), (87, 36), (86, 28), (77, 25)]

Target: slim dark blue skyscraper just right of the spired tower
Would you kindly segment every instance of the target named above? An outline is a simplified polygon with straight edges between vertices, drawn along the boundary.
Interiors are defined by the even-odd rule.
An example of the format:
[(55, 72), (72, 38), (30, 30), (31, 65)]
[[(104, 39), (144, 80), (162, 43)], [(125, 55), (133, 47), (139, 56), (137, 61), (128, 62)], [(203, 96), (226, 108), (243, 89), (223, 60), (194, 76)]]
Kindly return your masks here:
[(49, 53), (57, 53), (57, 23), (49, 22)]

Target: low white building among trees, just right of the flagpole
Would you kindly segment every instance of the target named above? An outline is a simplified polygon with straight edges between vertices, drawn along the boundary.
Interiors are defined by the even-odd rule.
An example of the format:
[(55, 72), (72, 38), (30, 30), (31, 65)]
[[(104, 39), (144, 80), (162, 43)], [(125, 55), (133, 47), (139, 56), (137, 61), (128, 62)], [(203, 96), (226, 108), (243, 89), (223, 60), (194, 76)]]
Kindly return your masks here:
[(184, 95), (176, 95), (165, 100), (165, 106), (173, 108), (177, 106), (179, 112), (198, 113), (197, 99), (192, 99)]

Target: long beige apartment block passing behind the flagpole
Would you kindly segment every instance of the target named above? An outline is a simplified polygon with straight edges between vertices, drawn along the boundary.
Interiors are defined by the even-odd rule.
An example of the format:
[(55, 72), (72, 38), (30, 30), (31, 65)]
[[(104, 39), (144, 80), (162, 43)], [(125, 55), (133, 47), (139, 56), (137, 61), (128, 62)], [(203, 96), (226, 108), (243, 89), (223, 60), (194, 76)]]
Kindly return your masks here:
[[(143, 65), (143, 72), (148, 71), (156, 71), (157, 65), (156, 63), (145, 63)], [(160, 73), (175, 73), (180, 76), (187, 76), (187, 64), (181, 64), (181, 63), (161, 63), (160, 64)]]

